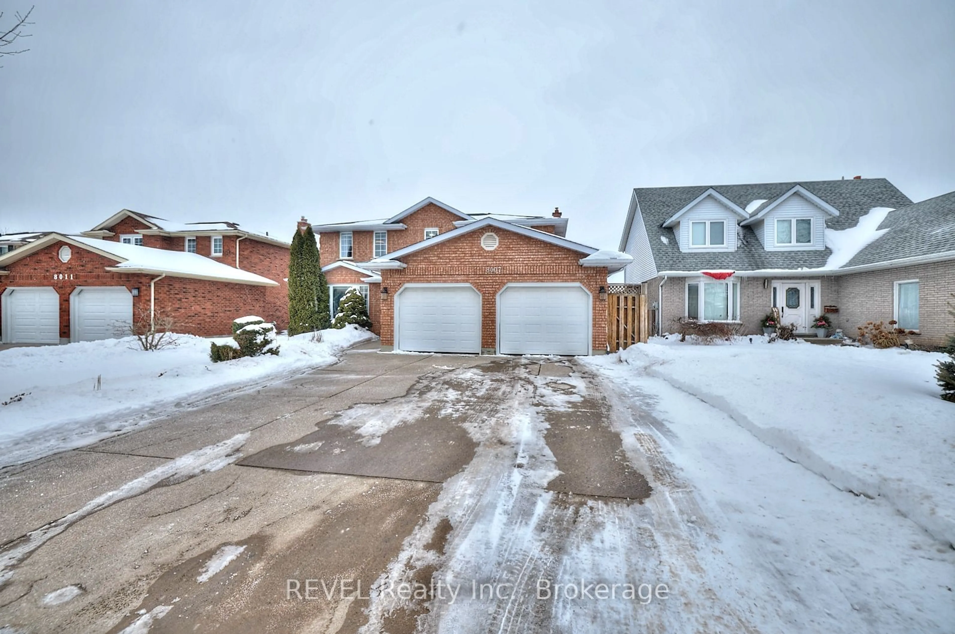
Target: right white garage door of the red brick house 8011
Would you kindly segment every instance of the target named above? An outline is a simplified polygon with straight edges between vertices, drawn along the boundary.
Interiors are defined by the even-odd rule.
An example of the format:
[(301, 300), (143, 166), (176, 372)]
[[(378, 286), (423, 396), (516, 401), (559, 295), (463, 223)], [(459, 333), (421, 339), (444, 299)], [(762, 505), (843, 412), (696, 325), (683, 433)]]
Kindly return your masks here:
[(77, 288), (73, 306), (74, 341), (98, 341), (129, 335), (133, 324), (133, 295), (125, 286)]

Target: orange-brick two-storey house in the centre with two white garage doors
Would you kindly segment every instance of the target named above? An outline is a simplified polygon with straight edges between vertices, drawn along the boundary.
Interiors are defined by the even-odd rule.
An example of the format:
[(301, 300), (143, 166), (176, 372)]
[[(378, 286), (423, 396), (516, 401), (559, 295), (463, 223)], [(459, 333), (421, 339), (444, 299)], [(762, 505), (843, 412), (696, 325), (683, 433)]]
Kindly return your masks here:
[(382, 349), (591, 354), (606, 346), (606, 277), (630, 258), (574, 243), (567, 221), (469, 215), (428, 198), (389, 219), (313, 227), (331, 311), (352, 285)]

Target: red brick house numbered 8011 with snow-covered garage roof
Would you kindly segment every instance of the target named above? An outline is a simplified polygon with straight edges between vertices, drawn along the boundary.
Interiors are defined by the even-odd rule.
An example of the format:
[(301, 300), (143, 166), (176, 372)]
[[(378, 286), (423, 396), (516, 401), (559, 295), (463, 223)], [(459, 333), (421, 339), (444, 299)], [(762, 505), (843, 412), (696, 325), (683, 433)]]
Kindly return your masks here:
[(248, 314), (286, 328), (287, 270), (287, 243), (238, 224), (180, 224), (124, 209), (80, 236), (33, 236), (0, 256), (0, 336), (110, 338), (152, 310), (200, 336), (229, 334), (231, 321)]

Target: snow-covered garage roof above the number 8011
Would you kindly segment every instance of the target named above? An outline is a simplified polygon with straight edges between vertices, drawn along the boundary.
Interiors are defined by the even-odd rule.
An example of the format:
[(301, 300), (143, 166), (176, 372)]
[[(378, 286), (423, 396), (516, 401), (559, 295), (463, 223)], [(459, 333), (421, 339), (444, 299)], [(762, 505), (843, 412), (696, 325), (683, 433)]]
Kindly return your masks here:
[(185, 251), (171, 251), (156, 249), (150, 246), (123, 244), (110, 240), (99, 240), (85, 236), (66, 236), (50, 233), (43, 238), (28, 243), (10, 253), (0, 256), (0, 266), (10, 264), (29, 256), (31, 253), (47, 246), (50, 243), (64, 242), (80, 248), (94, 251), (117, 262), (114, 266), (107, 266), (106, 270), (120, 273), (145, 273), (150, 275), (165, 274), (170, 277), (193, 278), (197, 280), (211, 280), (214, 282), (229, 282), (232, 284), (247, 284), (259, 286), (277, 286), (278, 283), (261, 275), (233, 268), (199, 255)]

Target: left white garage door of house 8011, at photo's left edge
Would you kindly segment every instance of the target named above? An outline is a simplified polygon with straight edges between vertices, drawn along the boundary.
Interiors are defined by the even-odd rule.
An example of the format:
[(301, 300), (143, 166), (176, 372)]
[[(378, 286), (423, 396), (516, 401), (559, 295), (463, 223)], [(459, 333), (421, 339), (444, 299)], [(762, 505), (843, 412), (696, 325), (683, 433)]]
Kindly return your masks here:
[(59, 343), (59, 295), (52, 287), (8, 288), (0, 311), (4, 343)]

